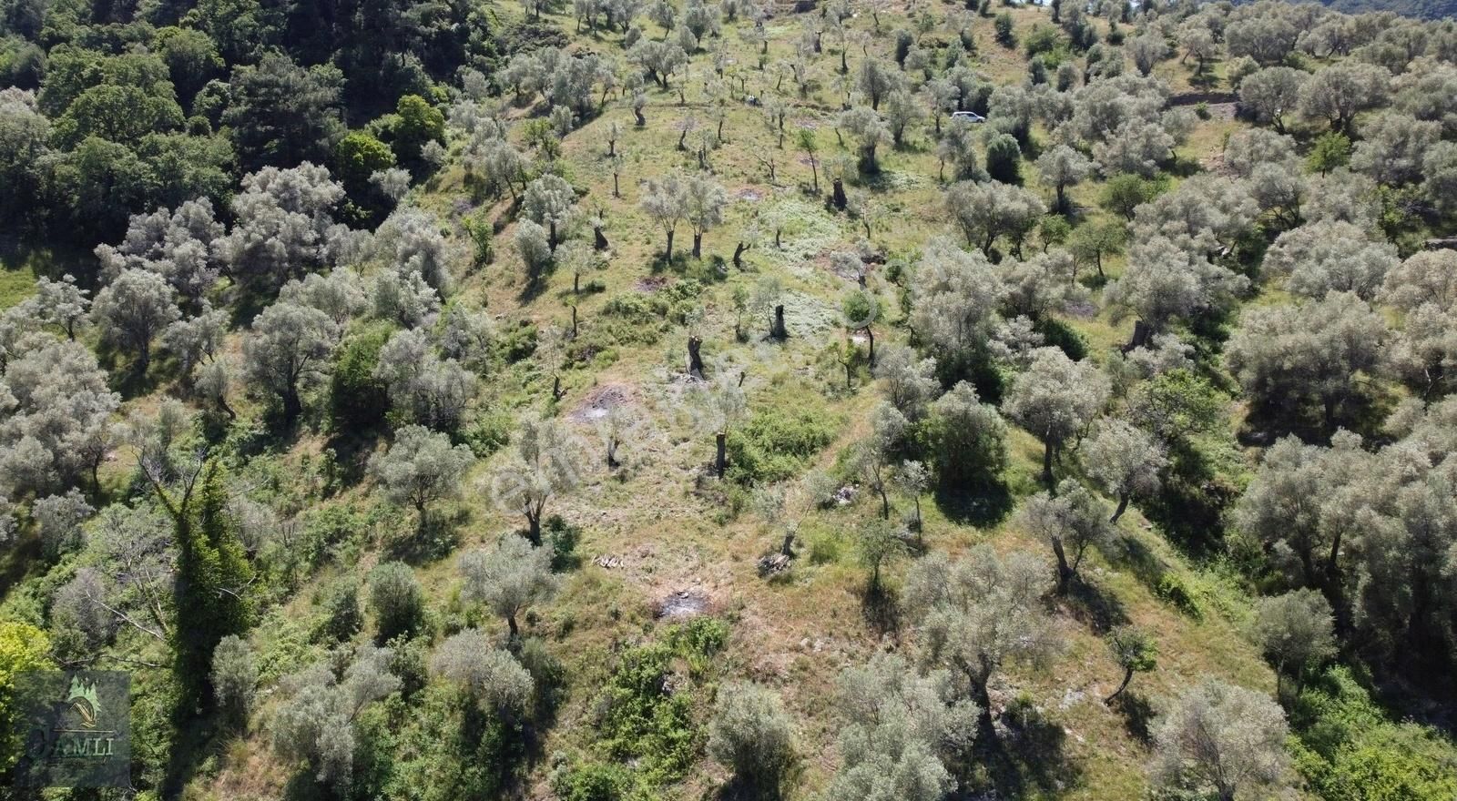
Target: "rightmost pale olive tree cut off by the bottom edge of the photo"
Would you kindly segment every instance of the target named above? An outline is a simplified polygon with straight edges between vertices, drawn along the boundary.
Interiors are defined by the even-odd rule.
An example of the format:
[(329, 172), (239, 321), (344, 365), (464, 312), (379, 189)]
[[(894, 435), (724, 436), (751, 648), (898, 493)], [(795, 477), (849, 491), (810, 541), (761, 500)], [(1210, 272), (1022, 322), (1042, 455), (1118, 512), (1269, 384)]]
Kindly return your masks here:
[(1154, 725), (1154, 773), (1160, 784), (1234, 801), (1282, 784), (1285, 733), (1285, 712), (1273, 701), (1205, 679)]

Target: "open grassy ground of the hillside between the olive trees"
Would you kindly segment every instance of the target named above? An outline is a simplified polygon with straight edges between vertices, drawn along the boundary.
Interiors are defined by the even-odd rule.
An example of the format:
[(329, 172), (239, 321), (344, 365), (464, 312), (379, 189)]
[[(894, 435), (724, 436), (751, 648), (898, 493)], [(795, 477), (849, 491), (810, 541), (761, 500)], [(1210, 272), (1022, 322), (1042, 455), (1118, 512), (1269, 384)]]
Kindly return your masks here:
[[(855, 262), (864, 269), (863, 285), (884, 309), (874, 323), (877, 352), (884, 352), (890, 345), (925, 344), (908, 325), (908, 269), (932, 239), (947, 236), (962, 245), (962, 236), (947, 213), (947, 182), (938, 178), (943, 165), (928, 121), (912, 127), (903, 144), (880, 147), (879, 172), (848, 170), (844, 211), (828, 197), (826, 170), (836, 157), (854, 156), (847, 147), (852, 137), (836, 130), (836, 118), (857, 63), (868, 55), (893, 58), (890, 32), (902, 28), (919, 31), (919, 47), (944, 52), (956, 36), (946, 17), (957, 9), (916, 6), (908, 13), (893, 4), (877, 12), (879, 20), (857, 13), (847, 20), (844, 39), (825, 35), (823, 52), (806, 61), (804, 92), (797, 92), (788, 64), (810, 17), (787, 6), (763, 22), (766, 54), (756, 52), (746, 35), (753, 23), (740, 17), (726, 22), (718, 39), (721, 77), (714, 52), (698, 51), (673, 89), (648, 83), (644, 125), (635, 122), (631, 95), (609, 90), (600, 114), (561, 137), (552, 169), (571, 184), (577, 208), (600, 217), (600, 234), (609, 242), (602, 268), (578, 281), (564, 265), (532, 278), (513, 245), (523, 217), (516, 191), (488, 192), (460, 131), (452, 133), (440, 169), (402, 201), (431, 213), (452, 246), (449, 304), (485, 310), (494, 322), (490, 366), (478, 370), (469, 422), (456, 435), (478, 459), (460, 479), (459, 495), (431, 507), (428, 518), (420, 520), (424, 513), (417, 517), (408, 504), (389, 502), (370, 469), (372, 456), (389, 447), (389, 428), (402, 422), (398, 411), (373, 428), (341, 427), (329, 419), (325, 387), (306, 403), (297, 430), (280, 434), (267, 399), (242, 386), (230, 389), (226, 402), (236, 419), (223, 424), (214, 447), (227, 454), (230, 491), (267, 510), (267, 545), (249, 551), (258, 577), (248, 590), (254, 625), (245, 636), (259, 692), (252, 708), (232, 719), (208, 709), (178, 721), (170, 717), (176, 687), (166, 670), (169, 645), (122, 626), (105, 648), (114, 661), (95, 664), (134, 671), (137, 762), (149, 794), (219, 801), (334, 797), (300, 760), (281, 756), (277, 721), (293, 698), (290, 676), (329, 660), (342, 667), (351, 648), (385, 644), (376, 636), (380, 622), (373, 612), (358, 631), (342, 638), (325, 634), (337, 620), (342, 588), (363, 587), (366, 601), (354, 610), (372, 609), (367, 585), (383, 562), (409, 565), (423, 587), (424, 613), (412, 635), (389, 642), (402, 687), (351, 718), (353, 797), (733, 798), (743, 788), (705, 751), (707, 727), (720, 690), (752, 680), (772, 687), (793, 719), (797, 759), (784, 797), (828, 798), (842, 763), (838, 741), (845, 727), (836, 677), (876, 652), (914, 657), (924, 647), (902, 603), (911, 565), (930, 552), (957, 558), (991, 545), (998, 553), (1036, 553), (1048, 561), (1050, 581), (1052, 551), (1018, 514), (1043, 489), (1043, 443), (1008, 422), (1008, 460), (997, 489), (932, 489), (919, 497), (889, 491), (898, 527), (914, 510), (922, 523), (914, 536), (902, 534), (905, 552), (886, 564), (883, 587), (870, 587), (858, 537), (880, 517), (880, 498), (851, 462), (886, 389), (871, 373), (864, 332), (845, 329), (842, 300), (860, 285), (860, 275), (847, 272), (835, 255), (861, 253)], [(975, 48), (965, 58), (995, 84), (1020, 84), (1029, 73), (1024, 42), (1058, 28), (1048, 9), (994, 12), (1010, 16), (1018, 44), (998, 42), (989, 16), (973, 17)], [(526, 22), (514, 6), (492, 6), (490, 13), (503, 32)], [(922, 15), (931, 20), (922, 23)], [(570, 9), (532, 23), (559, 28), (577, 52), (621, 52), (621, 31), (589, 32)], [(641, 23), (644, 38), (667, 35), (656, 23)], [(1110, 33), (1106, 20), (1093, 25), (1100, 35)], [(1128, 25), (1118, 29), (1129, 32)], [(848, 77), (839, 71), (842, 48)], [(1072, 58), (1061, 39), (1053, 52)], [(1173, 57), (1152, 74), (1171, 93), (1222, 92), (1225, 67), (1215, 58), (1205, 76), (1195, 76), (1193, 60)], [(791, 106), (782, 146), (763, 108), (747, 100), (771, 95)], [(549, 112), (535, 96), (507, 105), (508, 138), (530, 151), (526, 131)], [(960, 122), (941, 121), (953, 124)], [(1164, 188), (1217, 172), (1228, 135), (1247, 125), (1233, 105), (1201, 105), (1166, 165)], [(800, 130), (812, 131), (817, 143), (813, 170), (797, 147)], [(1308, 149), (1314, 134), (1300, 131), (1300, 146)], [(616, 176), (608, 144), (613, 137), (621, 154)], [(1049, 207), (1052, 189), (1039, 181), (1034, 159), (1050, 146), (1050, 133), (1037, 122), (1018, 163), (1021, 185)], [(986, 165), (981, 140), (976, 149), (978, 163)], [(704, 234), (701, 258), (688, 252), (692, 232), (683, 223), (672, 261), (664, 259), (664, 232), (643, 208), (644, 182), (672, 172), (711, 175), (727, 192), (723, 220)], [(1122, 224), (1100, 202), (1104, 191), (1099, 178), (1069, 186), (1077, 226)], [(482, 218), (494, 232), (494, 255), (476, 262), (466, 226)], [(576, 229), (577, 237), (592, 240), (590, 226)], [(1027, 258), (1055, 249), (1048, 230), (1055, 229), (1027, 237)], [(734, 264), (739, 245), (746, 248)], [(3, 256), (0, 309), (29, 296), (35, 277), (60, 274), (70, 264), (58, 253)], [(1131, 317), (1097, 301), (1099, 290), (1123, 274), (1125, 258), (1104, 258), (1103, 277), (1080, 265), (1077, 281), (1090, 300), (1058, 309), (1045, 325), (1062, 350), (1100, 368), (1120, 361), (1119, 347), (1134, 331)], [(777, 301), (784, 306), (784, 339), (769, 336), (774, 303), (745, 303), (769, 283), (778, 284)], [(1282, 297), (1275, 287), (1252, 291), (1243, 303)], [(251, 319), (249, 312), (235, 313), (221, 358), (240, 357), (251, 336), (242, 326)], [(1218, 387), (1218, 402), (1227, 408), (1220, 427), (1198, 434), (1190, 446), (1203, 470), (1201, 498), (1220, 497), (1224, 505), (1186, 513), (1177, 495), (1157, 504), (1139, 500), (1118, 521), (1113, 545), (1088, 551), (1072, 590), (1046, 594), (1045, 612), (1061, 647), (1040, 664), (1013, 663), (998, 673), (991, 687), (995, 741), (979, 743), (959, 775), (957, 798), (1144, 798), (1154, 792), (1150, 727), (1174, 698), (1203, 677), (1276, 693), (1276, 674), (1250, 638), (1260, 590), (1256, 571), (1241, 562), (1247, 553), (1222, 542), (1221, 514), (1250, 481), (1263, 444), (1247, 437), (1247, 408), (1218, 357), (1231, 319), (1211, 326), (1217, 331), (1185, 332), (1196, 342), (1198, 374)], [(356, 319), (344, 342), (369, 336), (372, 326), (390, 328)], [(726, 479), (714, 475), (715, 425), (701, 411), (702, 382), (686, 376), (691, 338), (702, 342), (708, 382), (737, 382), (747, 399), (747, 414), (728, 431), (733, 457)], [(95, 332), (83, 339), (98, 344)], [(848, 351), (839, 350), (847, 345)], [(115, 374), (124, 373), (122, 357), (106, 358)], [(140, 419), (156, 415), (165, 399), (188, 398), (169, 380), (175, 361), (159, 360), (149, 376), (114, 380), (124, 395), (118, 417)], [(992, 389), (1005, 386), (1016, 370), (1001, 366), (985, 382)], [(995, 400), (986, 392), (983, 399)], [(195, 398), (189, 402), (205, 411)], [(479, 719), (462, 703), (440, 680), (431, 652), (471, 626), (506, 642), (506, 622), (462, 597), (460, 556), (491, 549), (526, 524), (503, 498), (501, 481), (511, 475), (517, 421), (529, 414), (565, 425), (573, 479), (545, 505), (559, 587), (519, 620), (522, 636), (532, 642), (522, 663), (549, 698), (536, 714), (511, 721), (517, 725), (511, 730)], [(609, 425), (622, 428), (621, 465), (608, 465)], [(1077, 447), (1069, 444), (1059, 460), (1059, 478), (1085, 478)], [(108, 454), (99, 472), (111, 497), (147, 497), (138, 456), (133, 444)], [(759, 462), (752, 460), (756, 456)], [(778, 516), (763, 510), (766, 486), (787, 495)], [(829, 488), (835, 500), (813, 497), (816, 486)], [(793, 561), (787, 569), (765, 571), (761, 561), (779, 551), (785, 530), (794, 533)], [(42, 558), (29, 518), (19, 540), (0, 552), (0, 617), (45, 623), (51, 596), (83, 565), (74, 553), (54, 562)], [(1151, 635), (1157, 666), (1136, 674), (1118, 702), (1104, 703), (1123, 679), (1104, 638), (1128, 625)], [(660, 670), (653, 673), (651, 666)], [(1368, 679), (1359, 670), (1352, 677), (1335, 668), (1311, 680), (1305, 706), (1291, 712), (1297, 766), (1281, 797), (1339, 794), (1346, 785), (1313, 786), (1307, 776), (1320, 773), (1316, 763), (1354, 743), (1362, 727), (1386, 738), (1371, 747), (1405, 743), (1421, 756), (1423, 770), (1435, 765), (1440, 773), (1454, 765), (1450, 740), (1434, 727), (1393, 722), (1402, 714), (1367, 696), (1377, 686)], [(1339, 714), (1332, 711), (1338, 706)], [(641, 719), (624, 719), (625, 708)], [(1320, 725), (1329, 741), (1303, 738), (1305, 728)], [(593, 776), (612, 792), (590, 789)], [(1429, 778), (1431, 786), (1442, 786), (1440, 775)]]

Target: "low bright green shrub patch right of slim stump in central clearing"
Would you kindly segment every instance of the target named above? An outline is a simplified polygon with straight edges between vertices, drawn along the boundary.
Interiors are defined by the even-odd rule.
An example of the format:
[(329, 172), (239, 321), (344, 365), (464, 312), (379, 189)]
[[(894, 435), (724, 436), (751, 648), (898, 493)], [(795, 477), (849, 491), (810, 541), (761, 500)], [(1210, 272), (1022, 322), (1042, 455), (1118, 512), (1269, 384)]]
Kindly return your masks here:
[(728, 433), (728, 478), (743, 485), (785, 481), (830, 443), (835, 428), (823, 409), (761, 409)]

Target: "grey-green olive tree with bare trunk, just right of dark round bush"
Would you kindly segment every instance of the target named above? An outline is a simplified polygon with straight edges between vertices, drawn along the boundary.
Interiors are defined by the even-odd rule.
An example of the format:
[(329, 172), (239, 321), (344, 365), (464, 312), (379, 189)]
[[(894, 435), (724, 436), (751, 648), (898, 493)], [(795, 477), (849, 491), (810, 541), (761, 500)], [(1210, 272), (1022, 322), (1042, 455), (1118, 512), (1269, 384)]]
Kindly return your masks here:
[(1042, 440), (1042, 481), (1048, 486), (1064, 443), (1097, 417), (1110, 393), (1112, 382), (1103, 371), (1072, 361), (1058, 348), (1039, 348), (1027, 370), (1013, 379), (1004, 409)]

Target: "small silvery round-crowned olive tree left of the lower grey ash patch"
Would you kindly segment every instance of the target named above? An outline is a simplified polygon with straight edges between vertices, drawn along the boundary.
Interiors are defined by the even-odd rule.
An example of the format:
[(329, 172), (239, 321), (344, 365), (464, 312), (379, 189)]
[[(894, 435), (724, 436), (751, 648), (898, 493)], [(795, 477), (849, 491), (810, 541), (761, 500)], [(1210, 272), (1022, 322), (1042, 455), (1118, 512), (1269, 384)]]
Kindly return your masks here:
[(525, 537), (506, 536), (494, 551), (472, 551), (460, 556), (460, 599), (481, 603), (506, 620), (511, 639), (520, 635), (516, 617), (532, 604), (557, 593), (551, 572), (552, 549), (533, 546)]

